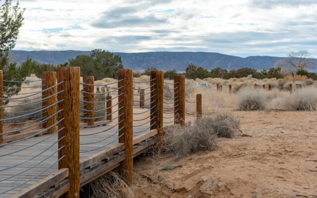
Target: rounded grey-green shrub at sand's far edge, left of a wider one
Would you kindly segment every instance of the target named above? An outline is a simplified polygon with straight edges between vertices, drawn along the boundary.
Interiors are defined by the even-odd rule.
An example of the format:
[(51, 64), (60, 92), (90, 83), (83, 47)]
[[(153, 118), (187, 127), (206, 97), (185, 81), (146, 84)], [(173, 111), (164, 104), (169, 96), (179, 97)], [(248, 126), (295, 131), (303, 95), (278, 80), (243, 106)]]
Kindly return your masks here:
[(246, 88), (238, 93), (238, 109), (240, 111), (264, 110), (267, 99), (262, 91)]

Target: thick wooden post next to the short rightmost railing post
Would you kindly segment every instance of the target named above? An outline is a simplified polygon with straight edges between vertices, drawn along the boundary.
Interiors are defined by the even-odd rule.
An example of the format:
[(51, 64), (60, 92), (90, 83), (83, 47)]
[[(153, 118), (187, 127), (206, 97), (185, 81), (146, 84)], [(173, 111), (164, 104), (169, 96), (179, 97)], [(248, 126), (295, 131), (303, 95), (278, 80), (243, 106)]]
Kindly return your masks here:
[(174, 76), (175, 124), (185, 124), (185, 76)]

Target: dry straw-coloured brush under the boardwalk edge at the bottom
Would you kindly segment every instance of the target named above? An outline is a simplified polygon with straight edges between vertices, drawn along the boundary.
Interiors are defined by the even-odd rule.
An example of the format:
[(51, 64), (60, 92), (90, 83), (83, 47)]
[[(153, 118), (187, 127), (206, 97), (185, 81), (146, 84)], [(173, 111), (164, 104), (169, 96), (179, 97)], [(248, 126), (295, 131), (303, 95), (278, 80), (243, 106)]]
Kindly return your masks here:
[(91, 198), (134, 198), (130, 187), (117, 173), (110, 171), (91, 182)]

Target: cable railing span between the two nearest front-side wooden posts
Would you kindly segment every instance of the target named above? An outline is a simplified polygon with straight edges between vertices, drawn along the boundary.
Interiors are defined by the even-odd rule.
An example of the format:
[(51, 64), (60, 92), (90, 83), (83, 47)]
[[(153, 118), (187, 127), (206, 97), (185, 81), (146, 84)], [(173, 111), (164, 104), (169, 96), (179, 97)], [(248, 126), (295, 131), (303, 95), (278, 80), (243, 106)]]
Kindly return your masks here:
[[(124, 123), (123, 111), (125, 109), (125, 106), (124, 99), (120, 99), (120, 97), (124, 95), (124, 93), (120, 93), (120, 91), (124, 89), (124, 85), (119, 86), (120, 82), (123, 82), (123, 79), (115, 83), (102, 85), (107, 87), (109, 90), (106, 91), (105, 89), (102, 89), (101, 93), (95, 93), (95, 89), (93, 89), (92, 87), (97, 85), (94, 85), (93, 82), (81, 83), (83, 85), (83, 91), (79, 91), (79, 93), (82, 94), (82, 96), (80, 96), (81, 114), (79, 119), (87, 123), (87, 125), (85, 125), (84, 127), (96, 127), (95, 129), (97, 130), (95, 130), (93, 133), (86, 133), (85, 131), (83, 133), (80, 133), (80, 137), (93, 138), (88, 138), (88, 141), (85, 141), (85, 138), (79, 143), (79, 145), (82, 146), (82, 149), (79, 151), (80, 154), (100, 150), (102, 148), (110, 146), (111, 144), (118, 142), (118, 140), (124, 135), (124, 132), (122, 134), (121, 132), (125, 128), (124, 126), (122, 126), (122, 124)], [(109, 85), (113, 84), (117, 84), (118, 88), (110, 90)], [(120, 101), (112, 104), (114, 99), (118, 99)], [(116, 107), (116, 110), (112, 110)], [(116, 122), (116, 120), (117, 123), (112, 125), (111, 123)]]

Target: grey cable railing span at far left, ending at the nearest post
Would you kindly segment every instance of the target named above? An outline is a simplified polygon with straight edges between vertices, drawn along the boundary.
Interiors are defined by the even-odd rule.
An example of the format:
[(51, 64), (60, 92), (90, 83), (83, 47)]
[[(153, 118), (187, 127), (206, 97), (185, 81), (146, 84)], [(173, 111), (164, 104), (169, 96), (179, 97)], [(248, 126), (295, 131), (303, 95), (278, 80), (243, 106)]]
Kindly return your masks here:
[[(24, 81), (3, 80), (3, 82), (22, 83)], [(44, 94), (55, 90), (63, 83), (65, 81), (41, 91), (15, 94), (25, 95), (23, 97), (0, 98), (2, 101), (7, 101), (5, 105), (0, 105), (1, 112), (3, 112), (3, 117), (0, 119), (3, 127), (0, 132), (0, 160), (6, 161), (5, 165), (0, 167), (0, 185), (3, 182), (7, 183), (7, 181), (17, 181), (16, 183), (7, 183), (9, 184), (7, 188), (0, 189), (0, 197), (12, 194), (13, 191), (20, 191), (21, 187), (26, 184), (34, 183), (39, 178), (43, 178), (42, 175), (52, 173), (51, 169), (57, 170), (56, 163), (59, 163), (65, 157), (65, 154), (57, 156), (57, 153), (65, 148), (65, 145), (61, 142), (64, 141), (66, 136), (60, 135), (65, 129), (65, 126), (61, 126), (65, 117), (60, 116), (64, 109), (56, 110), (58, 109), (57, 106), (65, 99), (55, 101), (57, 95), (63, 93), (64, 90), (50, 96)], [(46, 85), (21, 88), (43, 86)], [(3, 86), (3, 88), (20, 89), (11, 86)], [(40, 97), (33, 97), (39, 94)], [(14, 120), (18, 120), (18, 122)], [(49, 134), (39, 137), (45, 133)], [(18, 134), (19, 136), (15, 138), (12, 134)], [(35, 139), (34, 137), (39, 138)], [(6, 138), (9, 138), (9, 141)], [(11, 160), (13, 158), (14, 160)]]

